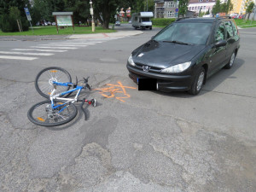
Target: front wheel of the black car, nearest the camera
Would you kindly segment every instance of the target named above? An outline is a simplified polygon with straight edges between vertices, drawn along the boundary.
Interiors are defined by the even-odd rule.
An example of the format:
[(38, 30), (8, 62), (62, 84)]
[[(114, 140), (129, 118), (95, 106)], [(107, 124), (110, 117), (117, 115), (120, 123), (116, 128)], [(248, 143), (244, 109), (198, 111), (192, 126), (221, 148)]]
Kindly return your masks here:
[(189, 94), (195, 96), (200, 93), (205, 77), (206, 77), (206, 70), (204, 67), (201, 67), (195, 75), (195, 79), (189, 90)]

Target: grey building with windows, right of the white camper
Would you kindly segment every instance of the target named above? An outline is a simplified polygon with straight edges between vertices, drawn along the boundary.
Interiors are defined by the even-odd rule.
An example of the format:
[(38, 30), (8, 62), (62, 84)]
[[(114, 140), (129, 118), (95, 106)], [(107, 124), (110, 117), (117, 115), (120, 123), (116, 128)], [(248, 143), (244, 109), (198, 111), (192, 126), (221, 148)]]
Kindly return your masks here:
[(176, 18), (177, 1), (155, 0), (154, 18)]

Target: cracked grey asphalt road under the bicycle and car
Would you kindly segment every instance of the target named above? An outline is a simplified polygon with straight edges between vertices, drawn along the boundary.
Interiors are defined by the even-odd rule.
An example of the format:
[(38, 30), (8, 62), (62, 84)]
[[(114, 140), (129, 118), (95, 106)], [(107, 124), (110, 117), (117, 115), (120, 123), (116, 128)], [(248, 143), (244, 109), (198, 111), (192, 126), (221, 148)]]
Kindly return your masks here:
[[(208, 79), (198, 96), (138, 91), (128, 78), (131, 51), (157, 32), (0, 39), (0, 191), (256, 191), (256, 29), (239, 31), (234, 67)], [(53, 52), (65, 44), (77, 49)], [(45, 128), (26, 118), (44, 100), (34, 88), (36, 74), (51, 66), (73, 79), (90, 76), (94, 90), (81, 97), (99, 105), (87, 108), (88, 120), (79, 113), (68, 125)], [(114, 92), (120, 85), (125, 92)], [(101, 93), (107, 88), (109, 98)]]

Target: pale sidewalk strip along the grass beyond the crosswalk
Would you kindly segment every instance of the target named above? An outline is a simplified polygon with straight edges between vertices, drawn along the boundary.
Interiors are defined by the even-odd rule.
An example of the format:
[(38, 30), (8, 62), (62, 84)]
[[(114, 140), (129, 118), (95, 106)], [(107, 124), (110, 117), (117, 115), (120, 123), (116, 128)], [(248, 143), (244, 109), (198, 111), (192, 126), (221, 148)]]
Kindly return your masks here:
[(0, 36), (0, 41), (42, 41), (79, 38), (119, 38), (143, 34), (142, 31), (117, 31), (110, 33), (77, 34), (77, 35), (46, 35), (46, 36)]

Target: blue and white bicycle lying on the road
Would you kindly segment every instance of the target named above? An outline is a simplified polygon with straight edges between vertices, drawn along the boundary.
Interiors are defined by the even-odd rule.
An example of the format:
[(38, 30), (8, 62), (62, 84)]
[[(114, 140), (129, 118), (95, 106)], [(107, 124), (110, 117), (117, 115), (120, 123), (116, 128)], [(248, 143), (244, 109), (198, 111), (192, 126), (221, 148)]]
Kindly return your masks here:
[[(44, 102), (38, 102), (33, 105), (27, 112), (27, 117), (32, 123), (42, 126), (64, 125), (74, 119), (78, 113), (74, 102), (82, 102), (80, 107), (84, 112), (84, 103), (96, 107), (96, 100), (79, 100), (81, 90), (90, 90), (88, 79), (82, 79), (76, 83), (72, 82), (70, 74), (61, 67), (47, 67), (40, 71), (36, 77), (36, 90), (41, 96), (49, 99)], [(73, 88), (70, 90), (70, 88)], [(65, 98), (74, 91), (77, 91), (73, 98)]]

